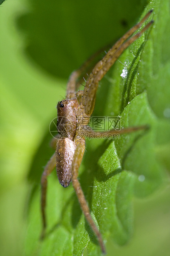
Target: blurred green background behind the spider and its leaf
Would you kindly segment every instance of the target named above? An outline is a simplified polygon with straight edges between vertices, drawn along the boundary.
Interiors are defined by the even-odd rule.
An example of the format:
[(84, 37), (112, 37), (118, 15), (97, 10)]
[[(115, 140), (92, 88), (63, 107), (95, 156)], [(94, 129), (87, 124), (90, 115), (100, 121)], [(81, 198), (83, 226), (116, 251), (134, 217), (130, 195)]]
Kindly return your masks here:
[[(1, 256), (24, 255), (28, 191), (33, 175), (39, 185), (52, 154), (48, 126), (70, 73), (122, 36), (147, 2), (7, 0), (0, 6)], [(133, 199), (134, 237), (124, 247), (110, 239), (108, 255), (170, 254), (170, 187), (165, 184), (147, 199)]]

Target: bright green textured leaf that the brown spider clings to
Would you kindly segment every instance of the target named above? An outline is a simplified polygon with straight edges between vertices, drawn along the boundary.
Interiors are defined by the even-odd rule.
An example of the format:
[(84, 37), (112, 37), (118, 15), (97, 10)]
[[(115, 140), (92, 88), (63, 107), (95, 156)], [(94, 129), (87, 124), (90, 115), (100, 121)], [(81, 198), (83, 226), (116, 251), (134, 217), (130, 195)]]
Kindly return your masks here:
[[(166, 4), (165, 1), (157, 1), (145, 8), (142, 16), (154, 8), (155, 24), (120, 57), (122, 63), (127, 63), (126, 78), (120, 76), (123, 65), (116, 62), (109, 75), (101, 81), (93, 114), (121, 114), (122, 127), (148, 124), (150, 129), (121, 135), (115, 142), (87, 141), (87, 152), (80, 169), (79, 180), (96, 225), (105, 241), (112, 237), (119, 245), (125, 244), (133, 234), (133, 195), (146, 197), (158, 189), (165, 178), (165, 167), (157, 159), (160, 145), (156, 135), (160, 123), (168, 125), (164, 111), (169, 107), (169, 59), (160, 54), (162, 50), (155, 46), (155, 38), (159, 33), (157, 19), (164, 17)], [(162, 28), (160, 30), (165, 32)], [(158, 36), (161, 46), (162, 38), (163, 35)], [(166, 40), (164, 42), (167, 43)], [(101, 110), (100, 97), (106, 90), (104, 84), (108, 86), (107, 94), (104, 93), (107, 105), (104, 104), (104, 110)], [(162, 146), (168, 139), (164, 135), (166, 133), (159, 134)], [(36, 201), (37, 195), (34, 197)], [(37, 241), (39, 234), (29, 230), (26, 254), (32, 255), (36, 251), (35, 255), (66, 255), (67, 251), (67, 255), (82, 255), (87, 247), (89, 255), (99, 255), (98, 242), (84, 219), (72, 187), (63, 192), (63, 188), (58, 188), (57, 182), (50, 177), (47, 201), (47, 238), (40, 244), (30, 242), (30, 239)], [(37, 204), (39, 200), (36, 207)], [(35, 219), (34, 212), (32, 206), (30, 223)], [(36, 229), (40, 230), (40, 224)]]

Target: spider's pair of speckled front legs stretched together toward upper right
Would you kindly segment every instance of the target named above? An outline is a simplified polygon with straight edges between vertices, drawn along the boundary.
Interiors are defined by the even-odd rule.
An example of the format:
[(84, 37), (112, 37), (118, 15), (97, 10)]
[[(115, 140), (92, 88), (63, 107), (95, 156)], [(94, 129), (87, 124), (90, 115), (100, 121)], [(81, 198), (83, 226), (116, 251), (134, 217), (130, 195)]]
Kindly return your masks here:
[[(105, 57), (95, 65), (93, 71), (88, 77), (88, 80), (84, 88), (84, 96), (83, 96), (82, 104), (84, 106), (84, 111), (87, 116), (91, 116), (91, 114), (93, 113), (93, 109), (95, 106), (95, 96), (96, 96), (96, 91), (98, 89), (99, 81), (105, 76), (107, 71), (109, 71), (110, 67), (114, 64), (114, 62), (116, 62), (116, 60), (119, 58), (122, 52), (126, 50), (126, 48), (130, 44), (132, 44), (137, 38), (139, 38), (142, 35), (142, 33), (144, 33), (144, 31), (146, 31), (149, 28), (149, 26), (151, 26), (153, 21), (150, 21), (144, 28), (142, 28), (140, 32), (132, 36), (132, 34), (138, 28), (140, 28), (140, 26), (144, 23), (144, 21), (149, 17), (151, 12), (152, 10), (148, 12), (138, 24), (136, 24), (122, 38), (120, 38), (113, 45), (113, 47), (107, 52)], [(129, 38), (130, 36), (132, 37)]]

